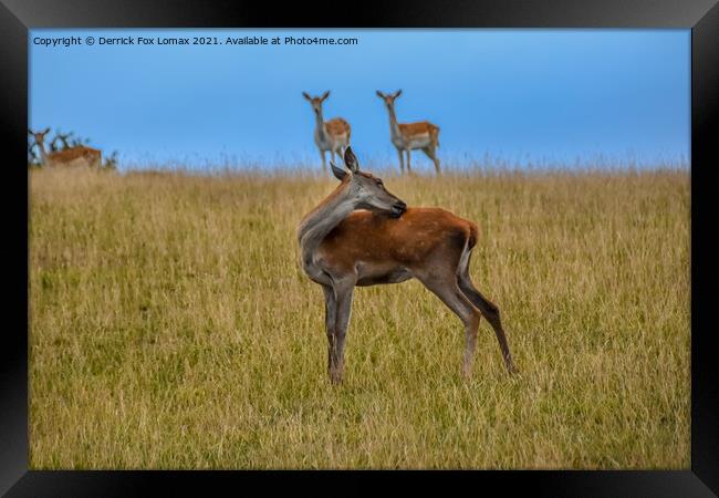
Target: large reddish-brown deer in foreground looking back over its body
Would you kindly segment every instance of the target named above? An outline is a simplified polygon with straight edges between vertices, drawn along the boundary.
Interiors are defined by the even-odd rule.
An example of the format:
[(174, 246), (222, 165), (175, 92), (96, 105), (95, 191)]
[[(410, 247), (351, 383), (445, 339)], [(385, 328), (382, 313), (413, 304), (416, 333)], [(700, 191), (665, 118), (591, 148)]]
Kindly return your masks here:
[(418, 279), (465, 326), (462, 375), (471, 374), (480, 317), (494, 330), (504, 365), (512, 361), (499, 308), (471, 281), (477, 226), (437, 207), (407, 207), (381, 178), (359, 170), (352, 147), (345, 168), (330, 163), (340, 185), (301, 220), (298, 241), (304, 273), (322, 287), (327, 372), (342, 383), (344, 346), (355, 287)]

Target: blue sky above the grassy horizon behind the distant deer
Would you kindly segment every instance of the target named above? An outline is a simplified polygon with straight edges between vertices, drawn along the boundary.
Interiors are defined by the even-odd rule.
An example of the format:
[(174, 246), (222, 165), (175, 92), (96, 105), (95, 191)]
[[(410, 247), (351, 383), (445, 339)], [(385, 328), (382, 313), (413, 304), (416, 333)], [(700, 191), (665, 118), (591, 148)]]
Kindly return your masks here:
[[(35, 43), (72, 35), (82, 44)], [(357, 44), (100, 44), (198, 35)], [(121, 167), (319, 165), (302, 92), (325, 90), (325, 117), (350, 122), (361, 160), (395, 164), (375, 91), (398, 89), (400, 122), (441, 128), (440, 159), (689, 160), (689, 30), (33, 30), (29, 43), (31, 126), (90, 137)]]

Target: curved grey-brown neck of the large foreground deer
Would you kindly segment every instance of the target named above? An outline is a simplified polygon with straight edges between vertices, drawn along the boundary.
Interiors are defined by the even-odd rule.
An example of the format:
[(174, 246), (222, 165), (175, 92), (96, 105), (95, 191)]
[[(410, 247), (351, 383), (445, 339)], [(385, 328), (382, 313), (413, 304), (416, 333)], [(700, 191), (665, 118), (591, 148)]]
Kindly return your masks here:
[(356, 208), (347, 183), (342, 183), (317, 207), (310, 211), (298, 229), (302, 262), (312, 264), (313, 256), (322, 240)]

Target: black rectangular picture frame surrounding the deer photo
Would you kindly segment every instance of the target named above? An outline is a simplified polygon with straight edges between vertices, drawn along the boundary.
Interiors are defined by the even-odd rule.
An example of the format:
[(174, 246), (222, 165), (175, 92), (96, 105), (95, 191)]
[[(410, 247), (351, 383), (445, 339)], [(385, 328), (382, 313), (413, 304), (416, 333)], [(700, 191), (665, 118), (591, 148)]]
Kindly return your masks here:
[[(691, 29), (691, 468), (617, 471), (38, 471), (28, 468), (28, 30), (34, 28), (685, 28)], [(477, 492), (499, 486), (539, 496), (704, 497), (719, 492), (719, 383), (711, 356), (711, 141), (719, 87), (716, 0), (402, 0), (270, 3), (189, 0), (0, 0), (0, 126), (8, 138), (2, 198), (6, 266), (4, 346), (0, 359), (0, 492), (8, 496), (134, 496), (160, 486), (180, 495), (199, 486), (236, 492), (288, 479), (347, 480), (333, 492), (384, 488), (400, 479), (425, 487), (451, 478)], [(715, 133), (712, 133), (715, 132)], [(23, 157), (24, 156), (24, 157)], [(23, 165), (23, 167), (20, 167)], [(25, 264), (22, 263), (25, 262)], [(8, 320), (10, 318), (11, 320)], [(375, 484), (366, 483), (372, 477)], [(378, 481), (378, 483), (376, 483)], [(347, 486), (350, 485), (350, 486)], [(298, 488), (299, 489), (299, 488)], [(449, 490), (450, 488), (447, 488)]]

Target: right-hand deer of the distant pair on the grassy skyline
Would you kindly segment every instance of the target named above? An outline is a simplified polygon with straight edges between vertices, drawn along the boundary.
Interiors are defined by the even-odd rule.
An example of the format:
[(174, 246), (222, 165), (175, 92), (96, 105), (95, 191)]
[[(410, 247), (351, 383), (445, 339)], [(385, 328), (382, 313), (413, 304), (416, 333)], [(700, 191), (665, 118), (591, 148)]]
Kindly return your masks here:
[(397, 154), (399, 154), (399, 169), (405, 170), (405, 156), (407, 152), (407, 173), (411, 173), (409, 166), (410, 151), (421, 148), (423, 152), (435, 163), (435, 170), (437, 175), (439, 170), (439, 159), (437, 158), (437, 147), (439, 147), (439, 126), (436, 126), (428, 121), (420, 121), (417, 123), (397, 123), (397, 114), (395, 113), (395, 100), (402, 95), (402, 90), (398, 90), (392, 95), (386, 95), (377, 90), (377, 95), (385, 102), (387, 111), (389, 112), (389, 137)]

